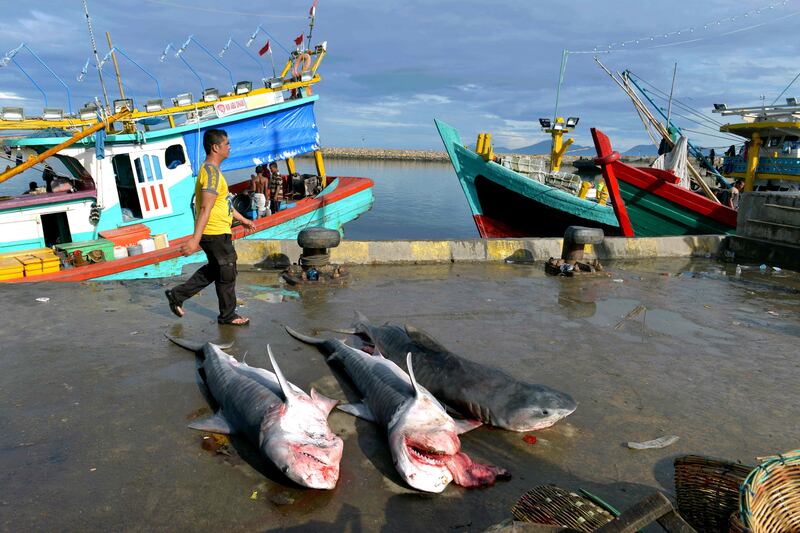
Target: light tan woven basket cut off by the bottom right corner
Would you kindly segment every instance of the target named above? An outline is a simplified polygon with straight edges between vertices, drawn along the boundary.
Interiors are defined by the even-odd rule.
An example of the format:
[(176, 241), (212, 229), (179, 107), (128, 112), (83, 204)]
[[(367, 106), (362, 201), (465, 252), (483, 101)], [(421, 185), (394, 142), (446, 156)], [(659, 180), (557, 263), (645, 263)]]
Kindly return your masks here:
[(758, 465), (742, 484), (739, 511), (753, 533), (800, 531), (800, 450)]

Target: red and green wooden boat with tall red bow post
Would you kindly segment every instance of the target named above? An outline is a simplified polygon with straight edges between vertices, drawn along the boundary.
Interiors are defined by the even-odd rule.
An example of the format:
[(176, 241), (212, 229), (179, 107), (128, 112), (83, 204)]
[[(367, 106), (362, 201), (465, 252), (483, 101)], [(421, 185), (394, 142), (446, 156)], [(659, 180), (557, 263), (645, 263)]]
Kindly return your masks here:
[(597, 163), (626, 237), (719, 235), (736, 230), (736, 210), (689, 188), (667, 170), (634, 167), (602, 131), (592, 128)]

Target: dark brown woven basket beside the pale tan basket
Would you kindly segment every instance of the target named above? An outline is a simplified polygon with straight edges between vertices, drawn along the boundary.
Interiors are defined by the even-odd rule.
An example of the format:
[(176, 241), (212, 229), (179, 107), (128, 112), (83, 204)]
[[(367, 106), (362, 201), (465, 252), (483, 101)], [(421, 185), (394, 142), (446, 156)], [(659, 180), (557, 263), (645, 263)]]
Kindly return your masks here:
[(753, 467), (699, 455), (677, 457), (674, 465), (678, 513), (697, 531), (728, 531), (739, 487)]

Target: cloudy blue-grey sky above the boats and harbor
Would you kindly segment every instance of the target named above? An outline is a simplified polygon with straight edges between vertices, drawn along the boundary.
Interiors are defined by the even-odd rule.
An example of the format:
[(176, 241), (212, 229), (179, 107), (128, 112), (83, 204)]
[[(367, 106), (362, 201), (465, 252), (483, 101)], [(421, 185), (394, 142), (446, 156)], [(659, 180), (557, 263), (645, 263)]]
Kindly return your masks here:
[[(253, 56), (270, 38), (267, 32), (280, 69), (288, 56), (281, 46), (292, 49), (296, 36), (308, 34), (312, 1), (88, 5), (100, 57), (109, 50), (109, 32), (114, 46), (152, 74), (168, 99), (201, 92), (174, 56), (190, 35), (184, 58), (205, 87), (229, 90), (226, 68), (235, 81), (260, 83), (262, 69), (270, 75), (272, 66), (269, 55)], [(76, 79), (92, 52), (80, 0), (0, 0), (0, 6), (0, 58), (24, 42), (27, 48), (14, 60), (42, 87), (50, 107), (66, 109), (67, 90), (36, 56), (66, 83), (73, 110), (101, 95), (93, 62), (84, 80)], [(649, 143), (629, 98), (595, 63), (597, 55), (612, 71), (629, 69), (651, 84), (653, 94), (668, 95), (677, 63), (672, 116), (694, 130), (688, 134), (695, 144), (725, 147), (732, 138), (708, 121), (736, 117), (712, 114), (713, 104), (753, 106), (762, 95), (767, 104), (778, 97), (800, 72), (798, 23), (800, 0), (318, 0), (312, 43), (328, 43), (314, 89), (320, 137), (323, 146), (441, 150), (433, 124), (438, 118), (455, 126), (465, 143), (491, 132), (495, 146), (520, 148), (548, 138), (538, 119), (554, 116), (558, 94), (558, 114), (580, 118), (572, 134), (577, 145), (591, 146), (591, 127), (620, 150)], [(229, 37), (244, 46), (259, 25), (251, 55), (234, 44), (220, 66), (202, 49), (218, 57)], [(126, 57), (118, 61), (137, 107), (158, 96), (148, 74)], [(0, 105), (38, 114), (44, 97), (19, 67), (0, 68)], [(103, 76), (110, 98), (118, 97), (111, 62)], [(781, 102), (787, 96), (800, 97), (800, 82)], [(666, 108), (666, 97), (657, 103)]]

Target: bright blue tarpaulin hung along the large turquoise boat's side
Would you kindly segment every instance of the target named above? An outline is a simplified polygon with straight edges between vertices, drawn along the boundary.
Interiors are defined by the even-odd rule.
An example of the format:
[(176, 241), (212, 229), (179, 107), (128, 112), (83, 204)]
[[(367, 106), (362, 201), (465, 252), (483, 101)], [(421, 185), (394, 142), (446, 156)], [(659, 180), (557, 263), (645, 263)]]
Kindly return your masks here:
[[(319, 150), (313, 102), (214, 127), (225, 130), (231, 143), (231, 154), (222, 162), (222, 171), (250, 168)], [(196, 130), (183, 134), (195, 173), (198, 162), (205, 159), (203, 133), (206, 129), (201, 128), (199, 134)]]

